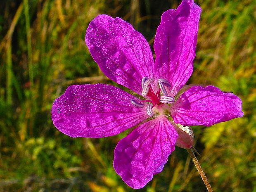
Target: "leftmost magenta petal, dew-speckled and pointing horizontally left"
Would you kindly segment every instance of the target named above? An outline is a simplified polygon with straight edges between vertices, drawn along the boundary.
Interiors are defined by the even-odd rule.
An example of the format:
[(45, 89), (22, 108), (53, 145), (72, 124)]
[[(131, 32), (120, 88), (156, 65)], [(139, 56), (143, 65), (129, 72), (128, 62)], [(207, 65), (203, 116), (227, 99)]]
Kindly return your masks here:
[(107, 137), (137, 125), (149, 116), (139, 99), (112, 85), (71, 85), (52, 105), (52, 121), (70, 137)]

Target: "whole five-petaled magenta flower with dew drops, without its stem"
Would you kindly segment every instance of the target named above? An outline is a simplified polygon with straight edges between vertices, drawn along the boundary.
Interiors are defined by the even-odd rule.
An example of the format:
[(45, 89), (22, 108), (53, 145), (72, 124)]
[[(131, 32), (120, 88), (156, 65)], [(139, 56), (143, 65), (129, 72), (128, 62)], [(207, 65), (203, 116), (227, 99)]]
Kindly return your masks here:
[(71, 85), (52, 106), (53, 124), (71, 137), (107, 137), (135, 127), (114, 151), (114, 169), (133, 188), (163, 170), (175, 145), (193, 145), (190, 126), (241, 117), (242, 102), (214, 86), (185, 85), (193, 71), (201, 8), (183, 0), (163, 13), (154, 61), (149, 44), (121, 18), (99, 15), (85, 42), (103, 73), (145, 97), (112, 85)]

